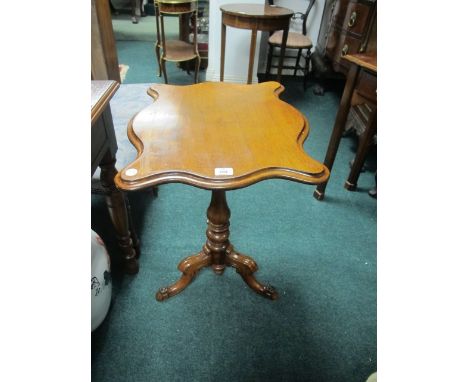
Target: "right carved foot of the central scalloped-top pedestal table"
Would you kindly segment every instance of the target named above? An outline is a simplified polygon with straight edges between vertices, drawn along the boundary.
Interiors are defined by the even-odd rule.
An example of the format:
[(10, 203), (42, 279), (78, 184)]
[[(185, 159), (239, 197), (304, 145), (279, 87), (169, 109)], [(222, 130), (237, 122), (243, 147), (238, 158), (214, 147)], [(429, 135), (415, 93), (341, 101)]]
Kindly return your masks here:
[(263, 285), (257, 281), (253, 273), (257, 271), (257, 263), (241, 253), (230, 251), (226, 254), (226, 263), (235, 268), (245, 283), (255, 292), (271, 300), (278, 298), (278, 292), (271, 285)]

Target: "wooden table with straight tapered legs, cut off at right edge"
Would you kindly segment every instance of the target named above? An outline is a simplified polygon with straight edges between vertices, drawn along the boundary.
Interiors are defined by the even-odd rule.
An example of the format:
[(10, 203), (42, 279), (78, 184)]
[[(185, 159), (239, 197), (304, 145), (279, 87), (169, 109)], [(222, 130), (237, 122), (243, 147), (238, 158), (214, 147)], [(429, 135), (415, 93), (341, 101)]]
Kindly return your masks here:
[[(335, 162), (336, 153), (338, 151), (338, 146), (341, 142), (341, 137), (343, 135), (344, 127), (346, 124), (346, 118), (349, 113), (351, 106), (351, 98), (354, 93), (357, 79), (361, 70), (366, 70), (373, 75), (377, 75), (377, 56), (373, 54), (349, 54), (343, 57), (345, 60), (351, 63), (351, 67), (348, 71), (346, 85), (343, 90), (343, 95), (340, 101), (340, 107), (336, 114), (335, 126), (333, 127), (333, 132), (328, 144), (327, 154), (325, 155), (325, 166), (331, 171), (333, 163)], [(356, 157), (354, 158), (353, 166), (349, 173), (348, 179), (345, 183), (345, 188), (353, 191), (356, 189), (357, 179), (361, 171), (362, 165), (366, 158), (367, 147), (370, 140), (377, 131), (377, 111), (371, 113), (369, 117), (369, 122), (367, 124), (369, 127), (364, 131), (359, 144)], [(323, 200), (325, 197), (325, 189), (327, 187), (328, 181), (319, 184), (314, 191), (314, 197), (317, 200)]]

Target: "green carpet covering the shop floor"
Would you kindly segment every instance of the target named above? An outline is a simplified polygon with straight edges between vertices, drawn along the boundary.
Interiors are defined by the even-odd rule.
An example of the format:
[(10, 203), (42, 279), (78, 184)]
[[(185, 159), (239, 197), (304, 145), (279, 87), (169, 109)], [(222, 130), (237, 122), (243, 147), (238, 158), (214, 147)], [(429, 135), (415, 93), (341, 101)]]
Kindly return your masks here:
[[(160, 82), (150, 59), (137, 59), (124, 43), (120, 62), (133, 57), (122, 62), (130, 65), (127, 79)], [(148, 64), (130, 77), (136, 61)], [(179, 72), (177, 81), (191, 78)], [(300, 81), (285, 85), (283, 99), (310, 121), (306, 151), (323, 160), (341, 88), (319, 97)], [(151, 102), (137, 86), (144, 88), (121, 86), (114, 118), (129, 107), (130, 91)], [(231, 241), (255, 258), (258, 279), (277, 288), (277, 301), (252, 292), (232, 269), (203, 270), (180, 295), (155, 300), (159, 287), (179, 278), (179, 261), (204, 243), (208, 191), (171, 184), (158, 198), (129, 195), (141, 240), (137, 276), (119, 272), (105, 202), (93, 196), (92, 228), (113, 261), (113, 301), (92, 335), (92, 380), (364, 382), (377, 369), (377, 203), (367, 195), (374, 173), (361, 174), (356, 192), (343, 188), (354, 147), (342, 140), (323, 202), (312, 197), (314, 187), (284, 180), (227, 193)]]

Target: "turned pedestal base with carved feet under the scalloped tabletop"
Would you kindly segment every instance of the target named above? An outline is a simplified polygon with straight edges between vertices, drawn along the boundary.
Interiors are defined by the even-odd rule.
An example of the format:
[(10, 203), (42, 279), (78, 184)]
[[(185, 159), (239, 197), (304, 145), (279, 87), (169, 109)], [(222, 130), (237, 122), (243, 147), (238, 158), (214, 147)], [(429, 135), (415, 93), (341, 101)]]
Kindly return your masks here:
[(249, 256), (237, 253), (229, 242), (230, 216), (226, 192), (212, 191), (207, 211), (206, 243), (200, 253), (181, 261), (178, 267), (182, 272), (181, 278), (168, 287), (160, 288), (156, 293), (158, 301), (163, 301), (183, 291), (192, 282), (198, 271), (208, 266), (211, 266), (218, 275), (223, 274), (226, 266), (233, 267), (255, 292), (272, 300), (278, 297), (272, 286), (261, 284), (253, 276), (257, 270), (255, 261)]

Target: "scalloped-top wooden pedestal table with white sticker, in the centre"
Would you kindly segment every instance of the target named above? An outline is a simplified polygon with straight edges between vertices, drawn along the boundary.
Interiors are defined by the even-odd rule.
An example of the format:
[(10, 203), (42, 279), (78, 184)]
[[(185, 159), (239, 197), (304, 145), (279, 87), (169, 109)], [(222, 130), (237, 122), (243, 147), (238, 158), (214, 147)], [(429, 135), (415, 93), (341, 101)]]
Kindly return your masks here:
[(283, 90), (277, 82), (149, 88), (155, 102), (129, 123), (129, 139), (138, 156), (117, 174), (117, 186), (132, 191), (185, 183), (212, 192), (205, 245), (182, 260), (182, 277), (161, 288), (157, 300), (180, 293), (208, 266), (216, 274), (234, 267), (255, 292), (277, 298), (273, 287), (255, 279), (255, 261), (229, 242), (226, 191), (271, 178), (306, 184), (328, 179), (328, 169), (305, 153), (302, 146), (309, 124), (299, 111), (279, 100)]

